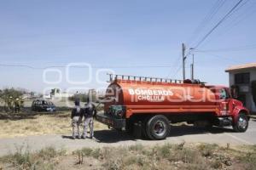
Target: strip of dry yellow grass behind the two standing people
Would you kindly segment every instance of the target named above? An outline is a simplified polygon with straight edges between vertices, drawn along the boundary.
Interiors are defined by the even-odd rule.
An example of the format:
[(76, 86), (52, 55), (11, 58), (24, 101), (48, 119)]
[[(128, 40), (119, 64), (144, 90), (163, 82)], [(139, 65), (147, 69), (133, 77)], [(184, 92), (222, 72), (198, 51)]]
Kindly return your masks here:
[[(0, 127), (0, 138), (72, 132), (70, 111), (50, 115), (26, 115), (21, 119), (0, 119)], [(95, 122), (95, 130), (105, 128), (107, 127), (102, 123)]]

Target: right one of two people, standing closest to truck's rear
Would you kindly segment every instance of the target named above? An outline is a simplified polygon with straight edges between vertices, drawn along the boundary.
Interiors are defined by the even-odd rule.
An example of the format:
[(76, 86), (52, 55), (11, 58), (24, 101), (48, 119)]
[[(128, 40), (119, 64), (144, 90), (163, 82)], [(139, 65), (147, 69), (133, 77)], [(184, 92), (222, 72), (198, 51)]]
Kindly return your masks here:
[(93, 131), (93, 116), (96, 116), (96, 106), (91, 102), (91, 99), (87, 99), (87, 103), (84, 106), (83, 111), (84, 116), (84, 132), (82, 138), (85, 139), (87, 137), (87, 127), (90, 128), (90, 139), (94, 139), (94, 131)]

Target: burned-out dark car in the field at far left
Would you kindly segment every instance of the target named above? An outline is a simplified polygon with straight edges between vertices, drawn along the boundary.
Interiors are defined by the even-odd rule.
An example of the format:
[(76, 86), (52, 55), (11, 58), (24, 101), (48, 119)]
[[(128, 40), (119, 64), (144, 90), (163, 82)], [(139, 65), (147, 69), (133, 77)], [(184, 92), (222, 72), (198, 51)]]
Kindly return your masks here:
[(32, 111), (56, 111), (55, 105), (51, 101), (36, 99), (32, 102)]

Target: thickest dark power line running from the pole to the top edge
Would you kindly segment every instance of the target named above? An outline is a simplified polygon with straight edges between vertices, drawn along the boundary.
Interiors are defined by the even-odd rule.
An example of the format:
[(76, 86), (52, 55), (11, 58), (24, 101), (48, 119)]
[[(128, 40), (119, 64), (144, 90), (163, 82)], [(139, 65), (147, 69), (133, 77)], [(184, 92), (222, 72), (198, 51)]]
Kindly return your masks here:
[(224, 17), (221, 20), (219, 20), (215, 26), (213, 26), (212, 29), (210, 31), (208, 31), (204, 37), (201, 38), (201, 41), (195, 45), (195, 48), (198, 48), (201, 45), (201, 43), (204, 42), (207, 39), (207, 37), (209, 37), (212, 34), (212, 31), (216, 30), (218, 28), (218, 26), (220, 26), (224, 22), (224, 20), (226, 20), (228, 17), (230, 17), (230, 14), (232, 14), (232, 12), (239, 6), (239, 4), (242, 1), (243, 0), (239, 0), (239, 2), (236, 3), (236, 5), (233, 8), (231, 8), (230, 11), (227, 14), (225, 14)]

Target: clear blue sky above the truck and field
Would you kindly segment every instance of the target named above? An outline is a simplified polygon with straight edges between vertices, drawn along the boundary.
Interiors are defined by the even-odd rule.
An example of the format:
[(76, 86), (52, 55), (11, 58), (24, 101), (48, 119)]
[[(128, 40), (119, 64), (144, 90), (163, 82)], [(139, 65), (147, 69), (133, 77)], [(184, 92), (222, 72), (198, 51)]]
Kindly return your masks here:
[[(224, 1), (224, 0), (223, 0)], [(203, 37), (238, 0), (227, 0), (200, 31), (197, 26), (218, 0), (6, 0), (0, 1), (0, 64), (67, 65), (89, 63), (119, 74), (182, 78), (181, 44), (188, 48)], [(244, 0), (246, 2), (246, 0)], [(253, 46), (241, 51), (195, 53), (195, 78), (228, 85), (224, 70), (256, 61), (256, 2), (249, 0), (219, 26), (198, 50)], [(195, 34), (196, 33), (196, 34)], [(193, 36), (195, 35), (195, 36)], [(188, 57), (189, 67), (191, 56)], [(164, 67), (130, 67), (161, 65)], [(169, 66), (169, 67), (166, 67)], [(189, 68), (187, 68), (189, 77)], [(65, 79), (56, 88), (102, 86), (94, 80), (73, 85)], [(43, 70), (0, 66), (0, 87), (42, 92)], [(86, 69), (73, 69), (73, 80), (86, 79)], [(92, 71), (95, 77), (96, 69)], [(101, 79), (107, 80), (102, 72)], [(48, 74), (54, 81), (55, 73)], [(94, 78), (95, 79), (95, 78)], [(50, 85), (51, 86), (51, 85)]]

